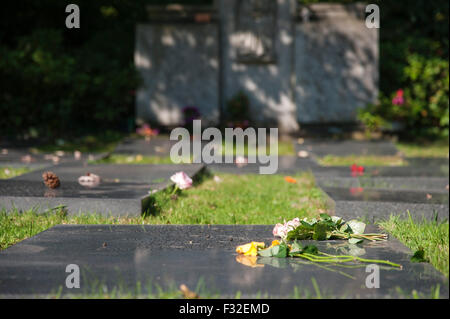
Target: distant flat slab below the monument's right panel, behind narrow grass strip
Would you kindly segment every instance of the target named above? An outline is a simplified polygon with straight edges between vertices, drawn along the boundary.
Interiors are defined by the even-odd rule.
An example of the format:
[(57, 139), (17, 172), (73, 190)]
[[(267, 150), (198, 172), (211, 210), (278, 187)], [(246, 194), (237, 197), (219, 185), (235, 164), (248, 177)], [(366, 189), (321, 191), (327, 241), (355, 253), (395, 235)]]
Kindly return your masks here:
[(352, 141), (352, 140), (320, 140), (305, 139), (303, 144), (295, 144), (295, 149), (308, 151), (316, 156), (326, 155), (396, 155), (398, 149), (387, 141)]

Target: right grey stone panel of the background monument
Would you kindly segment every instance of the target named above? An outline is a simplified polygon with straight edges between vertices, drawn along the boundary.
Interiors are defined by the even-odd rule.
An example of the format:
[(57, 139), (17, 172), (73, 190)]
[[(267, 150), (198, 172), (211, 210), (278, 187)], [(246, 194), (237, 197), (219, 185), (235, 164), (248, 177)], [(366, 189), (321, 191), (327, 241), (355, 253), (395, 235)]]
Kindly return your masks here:
[(295, 26), (295, 102), (300, 123), (354, 122), (378, 94), (378, 32), (363, 5), (312, 5)]

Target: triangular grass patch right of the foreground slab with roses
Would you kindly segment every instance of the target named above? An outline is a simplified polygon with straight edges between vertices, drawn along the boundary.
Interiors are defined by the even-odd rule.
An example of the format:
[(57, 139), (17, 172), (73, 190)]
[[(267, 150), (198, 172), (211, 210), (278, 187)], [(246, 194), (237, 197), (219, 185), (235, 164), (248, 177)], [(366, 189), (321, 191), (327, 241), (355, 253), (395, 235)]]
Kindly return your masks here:
[(449, 223), (423, 220), (415, 222), (391, 216), (380, 226), (403, 242), (413, 252), (423, 248), (425, 259), (444, 273), (449, 274)]

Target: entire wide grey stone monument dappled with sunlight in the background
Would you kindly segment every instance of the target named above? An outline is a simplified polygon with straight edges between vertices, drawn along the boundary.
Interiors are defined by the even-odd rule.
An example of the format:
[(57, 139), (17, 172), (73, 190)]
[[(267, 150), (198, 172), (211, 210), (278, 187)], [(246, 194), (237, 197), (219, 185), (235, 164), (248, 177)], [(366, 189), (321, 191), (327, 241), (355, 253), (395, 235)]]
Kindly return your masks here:
[(183, 23), (169, 16), (137, 26), (138, 120), (179, 125), (182, 108), (194, 105), (217, 124), (243, 91), (253, 120), (295, 132), (355, 122), (377, 97), (378, 31), (365, 26), (365, 5), (220, 0), (209, 9), (217, 18), (202, 13), (202, 23), (190, 10), (178, 11)]

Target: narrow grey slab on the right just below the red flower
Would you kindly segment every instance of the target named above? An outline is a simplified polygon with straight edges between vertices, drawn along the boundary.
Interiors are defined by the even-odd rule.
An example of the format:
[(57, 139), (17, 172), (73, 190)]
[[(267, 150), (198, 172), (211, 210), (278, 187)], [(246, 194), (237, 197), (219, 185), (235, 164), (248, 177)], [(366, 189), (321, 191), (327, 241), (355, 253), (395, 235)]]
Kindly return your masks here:
[(445, 177), (318, 177), (323, 187), (448, 191)]

